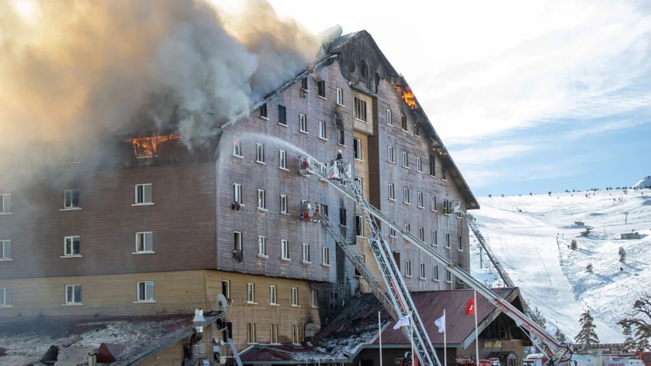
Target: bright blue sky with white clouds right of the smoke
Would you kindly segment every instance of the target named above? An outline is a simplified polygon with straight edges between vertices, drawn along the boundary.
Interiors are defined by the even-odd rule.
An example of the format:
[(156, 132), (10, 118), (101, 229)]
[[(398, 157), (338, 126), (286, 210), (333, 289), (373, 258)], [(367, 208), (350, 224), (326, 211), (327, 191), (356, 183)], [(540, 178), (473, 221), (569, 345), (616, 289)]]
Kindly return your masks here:
[(366, 29), (475, 195), (651, 175), (651, 7), (641, 1), (270, 3), (314, 33)]

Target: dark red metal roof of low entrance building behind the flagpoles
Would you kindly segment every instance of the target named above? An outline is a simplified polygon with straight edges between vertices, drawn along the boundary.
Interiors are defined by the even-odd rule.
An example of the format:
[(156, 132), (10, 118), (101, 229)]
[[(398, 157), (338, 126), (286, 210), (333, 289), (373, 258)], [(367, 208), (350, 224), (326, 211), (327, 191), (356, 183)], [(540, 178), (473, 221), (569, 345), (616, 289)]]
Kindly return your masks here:
[[(508, 302), (519, 302), (517, 288), (493, 289)], [(475, 317), (465, 315), (465, 304), (473, 290), (442, 290), (411, 292), (423, 324), (437, 348), (443, 347), (443, 333), (434, 320), (446, 311), (447, 345), (465, 348), (475, 339)], [(519, 304), (521, 305), (521, 303)], [(378, 311), (382, 328), (382, 345), (408, 347), (408, 339), (394, 330), (395, 321), (373, 294), (360, 294), (313, 339), (314, 345), (253, 345), (240, 354), (244, 364), (310, 363), (308, 361), (346, 363), (363, 348), (378, 346)], [(477, 296), (478, 330), (481, 333), (501, 311), (486, 298)]]

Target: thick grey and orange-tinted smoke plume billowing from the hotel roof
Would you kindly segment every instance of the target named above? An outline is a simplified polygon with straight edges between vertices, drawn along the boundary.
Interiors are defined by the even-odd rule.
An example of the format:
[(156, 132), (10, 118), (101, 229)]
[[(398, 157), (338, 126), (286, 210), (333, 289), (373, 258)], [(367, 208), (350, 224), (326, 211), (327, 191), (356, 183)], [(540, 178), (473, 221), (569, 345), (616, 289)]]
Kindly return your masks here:
[(0, 160), (34, 143), (217, 126), (309, 65), (320, 42), (264, 1), (0, 1)]

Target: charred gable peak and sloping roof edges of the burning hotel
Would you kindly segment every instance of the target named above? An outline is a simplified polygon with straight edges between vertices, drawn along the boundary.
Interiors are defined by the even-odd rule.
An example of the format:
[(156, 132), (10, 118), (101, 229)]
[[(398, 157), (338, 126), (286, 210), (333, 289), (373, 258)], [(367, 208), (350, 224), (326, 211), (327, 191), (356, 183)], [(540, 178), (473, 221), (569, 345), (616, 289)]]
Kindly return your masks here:
[[(447, 148), (443, 145), (441, 137), (434, 130), (432, 122), (430, 122), (421, 104), (411, 91), (409, 84), (401, 74), (396, 72), (391, 63), (389, 63), (389, 60), (382, 53), (373, 37), (367, 31), (349, 33), (348, 35), (339, 36), (331, 44), (324, 45), (324, 48), (327, 49), (326, 57), (314, 65), (309, 66), (305, 71), (251, 105), (249, 111), (255, 111), (255, 109), (258, 109), (262, 104), (266, 104), (266, 102), (277, 94), (301, 81), (303, 77), (307, 77), (319, 68), (329, 66), (336, 58), (339, 60), (342, 75), (346, 77), (350, 85), (362, 84), (367, 91), (377, 92), (380, 80), (386, 80), (393, 84), (396, 92), (401, 94), (402, 100), (404, 100), (406, 106), (413, 114), (416, 123), (422, 128), (426, 136), (429, 137), (432, 145), (432, 154), (437, 154), (441, 162), (443, 162), (443, 165), (445, 165), (447, 173), (464, 197), (467, 203), (467, 209), (478, 209), (479, 203), (475, 195), (473, 195), (467, 182), (465, 182), (464, 176), (462, 176), (456, 163), (452, 160)], [(228, 124), (222, 126), (222, 128), (227, 126)]]

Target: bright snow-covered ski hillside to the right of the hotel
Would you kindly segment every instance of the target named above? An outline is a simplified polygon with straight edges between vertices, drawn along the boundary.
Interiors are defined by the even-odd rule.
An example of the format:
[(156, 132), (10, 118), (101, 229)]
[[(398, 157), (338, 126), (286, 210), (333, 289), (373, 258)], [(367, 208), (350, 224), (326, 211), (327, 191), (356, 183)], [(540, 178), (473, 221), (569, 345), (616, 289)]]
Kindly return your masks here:
[[(471, 213), (482, 234), (525, 299), (546, 316), (549, 328), (558, 327), (571, 339), (579, 331), (581, 313), (590, 309), (600, 341), (624, 339), (616, 322), (651, 285), (651, 190), (483, 197), (479, 202), (481, 210)], [(593, 229), (581, 236), (586, 227)], [(633, 231), (643, 237), (620, 238)], [(573, 239), (575, 250), (570, 249)], [(480, 268), (474, 238), (471, 246), (475, 277), (499, 283), (485, 254)], [(619, 262), (620, 247), (626, 251), (624, 263)]]

